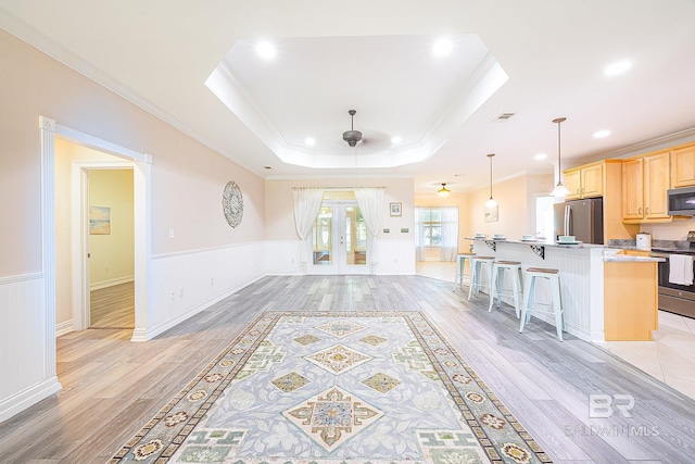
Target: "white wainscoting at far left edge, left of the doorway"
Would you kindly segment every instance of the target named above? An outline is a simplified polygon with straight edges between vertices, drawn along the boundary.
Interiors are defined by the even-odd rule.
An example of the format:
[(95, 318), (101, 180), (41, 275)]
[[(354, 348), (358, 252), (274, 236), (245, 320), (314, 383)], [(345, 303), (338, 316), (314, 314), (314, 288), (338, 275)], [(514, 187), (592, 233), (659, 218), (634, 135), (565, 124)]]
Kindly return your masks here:
[(60, 390), (47, 365), (55, 327), (48, 327), (43, 285), (40, 273), (0, 278), (0, 422)]

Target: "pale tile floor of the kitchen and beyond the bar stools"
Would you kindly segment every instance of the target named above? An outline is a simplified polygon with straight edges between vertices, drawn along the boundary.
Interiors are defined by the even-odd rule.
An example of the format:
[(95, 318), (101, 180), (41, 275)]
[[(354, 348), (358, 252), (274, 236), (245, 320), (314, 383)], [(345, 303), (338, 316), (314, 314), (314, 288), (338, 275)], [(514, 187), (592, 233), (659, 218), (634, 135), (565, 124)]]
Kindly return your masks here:
[[(417, 263), (417, 274), (454, 281), (454, 263)], [(653, 341), (597, 343), (652, 377), (695, 399), (695, 319), (659, 311), (659, 329)]]

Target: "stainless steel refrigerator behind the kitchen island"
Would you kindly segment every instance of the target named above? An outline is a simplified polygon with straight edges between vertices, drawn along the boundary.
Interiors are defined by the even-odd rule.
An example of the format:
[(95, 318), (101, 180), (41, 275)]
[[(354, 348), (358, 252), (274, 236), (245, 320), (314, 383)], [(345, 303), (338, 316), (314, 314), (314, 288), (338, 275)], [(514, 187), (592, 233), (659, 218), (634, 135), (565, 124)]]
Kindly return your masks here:
[(555, 239), (573, 235), (584, 243), (604, 242), (604, 199), (589, 198), (555, 203)]

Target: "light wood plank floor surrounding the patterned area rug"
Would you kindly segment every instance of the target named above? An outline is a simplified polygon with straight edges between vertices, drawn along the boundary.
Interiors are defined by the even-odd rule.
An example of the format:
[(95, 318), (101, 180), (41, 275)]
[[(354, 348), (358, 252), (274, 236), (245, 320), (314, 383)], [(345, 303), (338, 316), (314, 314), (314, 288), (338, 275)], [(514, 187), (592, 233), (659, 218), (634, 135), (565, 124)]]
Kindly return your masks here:
[[(486, 301), (419, 276), (266, 277), (147, 343), (72, 333), (58, 339), (63, 390), (0, 424), (0, 462), (104, 463), (264, 310), (424, 311), (554, 462), (694, 461), (693, 400), (544, 323), (519, 334)], [(590, 394), (633, 396), (631, 417), (590, 418)]]

